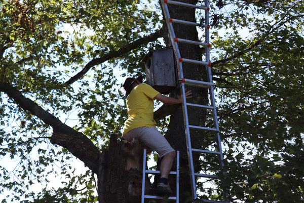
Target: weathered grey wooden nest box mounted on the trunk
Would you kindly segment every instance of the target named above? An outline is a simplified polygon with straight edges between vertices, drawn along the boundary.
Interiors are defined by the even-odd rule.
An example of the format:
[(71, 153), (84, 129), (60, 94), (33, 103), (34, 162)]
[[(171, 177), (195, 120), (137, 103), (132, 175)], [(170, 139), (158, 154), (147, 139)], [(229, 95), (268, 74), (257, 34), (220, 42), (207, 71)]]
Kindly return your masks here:
[(167, 94), (176, 86), (176, 61), (173, 48), (149, 51), (141, 62), (145, 63), (146, 83), (157, 91)]

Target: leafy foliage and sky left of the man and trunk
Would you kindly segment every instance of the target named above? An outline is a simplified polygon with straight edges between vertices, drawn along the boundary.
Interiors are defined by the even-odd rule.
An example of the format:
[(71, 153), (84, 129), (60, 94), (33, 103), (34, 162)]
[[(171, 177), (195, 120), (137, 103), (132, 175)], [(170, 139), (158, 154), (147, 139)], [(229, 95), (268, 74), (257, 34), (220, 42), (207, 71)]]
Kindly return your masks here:
[[(110, 132), (119, 133), (127, 115), (116, 79), (121, 73), (113, 67), (128, 55), (95, 66), (77, 84), (65, 82), (93, 58), (117, 51), (159, 28), (159, 14), (150, 11), (148, 2), (140, 8), (137, 3), (2, 1), (0, 81), (10, 83), (85, 133), (100, 148), (106, 147)], [(149, 46), (155, 44), (159, 43)], [(139, 61), (132, 60), (146, 51), (146, 46), (133, 50), (133, 58), (122, 66), (134, 72)], [(0, 153), (4, 160), (17, 160), (12, 172), (1, 166), (1, 191), (10, 190), (12, 200), (26, 199), (24, 202), (96, 202), (93, 175), (86, 172), (73, 177), (71, 154), (50, 144), (50, 127), (4, 93), (1, 104)], [(47, 187), (53, 176), (67, 183), (62, 188)], [(41, 192), (28, 192), (40, 183), (45, 187)]]

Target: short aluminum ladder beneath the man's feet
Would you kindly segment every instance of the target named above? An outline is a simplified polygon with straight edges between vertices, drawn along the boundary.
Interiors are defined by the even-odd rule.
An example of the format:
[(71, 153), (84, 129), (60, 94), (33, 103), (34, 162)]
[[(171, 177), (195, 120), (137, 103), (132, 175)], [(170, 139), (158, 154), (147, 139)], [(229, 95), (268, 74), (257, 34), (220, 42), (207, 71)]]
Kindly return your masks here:
[[(144, 199), (162, 199), (162, 196), (157, 195), (145, 195), (145, 174), (160, 174), (160, 171), (146, 170), (146, 149), (143, 150), (143, 166), (142, 166), (142, 188), (141, 188), (141, 203), (144, 203)], [(175, 199), (176, 203), (179, 202), (179, 151), (176, 151), (176, 172), (171, 171), (169, 174), (176, 175), (176, 196), (170, 196), (168, 199)]]

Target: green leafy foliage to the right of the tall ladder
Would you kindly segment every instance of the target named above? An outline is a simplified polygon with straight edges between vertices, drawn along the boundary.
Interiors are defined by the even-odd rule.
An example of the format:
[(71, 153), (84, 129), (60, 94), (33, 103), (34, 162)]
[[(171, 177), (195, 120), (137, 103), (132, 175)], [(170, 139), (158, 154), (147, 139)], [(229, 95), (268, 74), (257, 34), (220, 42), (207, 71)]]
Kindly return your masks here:
[[(214, 33), (219, 51), (213, 57), (214, 76), (221, 79), (219, 123), (229, 148), (231, 199), (303, 202), (302, 178), (295, 175), (303, 169), (303, 5), (239, 1), (236, 6), (218, 20), (219, 28), (232, 32)], [(248, 28), (247, 38), (240, 28)]]

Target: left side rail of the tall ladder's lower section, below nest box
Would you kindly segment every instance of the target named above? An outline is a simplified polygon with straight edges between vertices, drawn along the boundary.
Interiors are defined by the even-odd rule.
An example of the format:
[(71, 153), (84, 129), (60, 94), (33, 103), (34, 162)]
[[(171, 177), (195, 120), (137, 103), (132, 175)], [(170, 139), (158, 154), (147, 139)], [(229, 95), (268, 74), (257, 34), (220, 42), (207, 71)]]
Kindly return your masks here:
[(184, 119), (184, 127), (185, 127), (185, 136), (186, 136), (186, 145), (187, 145), (187, 154), (188, 154), (188, 164), (191, 166), (189, 168), (191, 171), (189, 173), (190, 175), (190, 182), (191, 182), (191, 191), (192, 196), (194, 199), (197, 198), (197, 192), (196, 192), (196, 178), (194, 173), (194, 163), (193, 163), (193, 155), (192, 155), (192, 146), (191, 146), (191, 137), (190, 137), (190, 130), (189, 130), (189, 122), (188, 122), (188, 113), (187, 113), (187, 107), (186, 107), (186, 98), (185, 98), (185, 86), (184, 83), (181, 83), (182, 88), (182, 109), (183, 109), (183, 119)]

